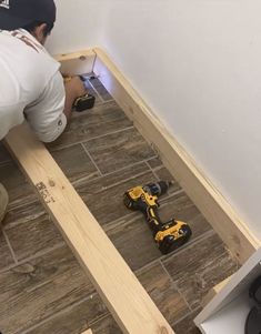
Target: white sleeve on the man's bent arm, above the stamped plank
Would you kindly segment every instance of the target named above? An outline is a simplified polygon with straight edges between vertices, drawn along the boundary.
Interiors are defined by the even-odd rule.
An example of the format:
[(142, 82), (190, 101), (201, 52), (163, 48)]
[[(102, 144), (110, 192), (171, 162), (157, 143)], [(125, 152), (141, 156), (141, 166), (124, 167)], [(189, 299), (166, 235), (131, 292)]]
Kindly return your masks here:
[(40, 141), (52, 142), (66, 129), (64, 103), (63, 79), (57, 72), (41, 97), (24, 110), (26, 118)]

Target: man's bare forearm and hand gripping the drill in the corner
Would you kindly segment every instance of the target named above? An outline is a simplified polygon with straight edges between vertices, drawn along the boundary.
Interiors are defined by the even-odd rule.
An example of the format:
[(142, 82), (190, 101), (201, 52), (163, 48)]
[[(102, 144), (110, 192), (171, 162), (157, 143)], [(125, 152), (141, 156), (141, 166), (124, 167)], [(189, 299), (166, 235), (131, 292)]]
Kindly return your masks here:
[(64, 114), (69, 120), (71, 117), (71, 110), (76, 99), (87, 94), (83, 82), (79, 77), (73, 77), (72, 79), (64, 82), (66, 88), (66, 107)]

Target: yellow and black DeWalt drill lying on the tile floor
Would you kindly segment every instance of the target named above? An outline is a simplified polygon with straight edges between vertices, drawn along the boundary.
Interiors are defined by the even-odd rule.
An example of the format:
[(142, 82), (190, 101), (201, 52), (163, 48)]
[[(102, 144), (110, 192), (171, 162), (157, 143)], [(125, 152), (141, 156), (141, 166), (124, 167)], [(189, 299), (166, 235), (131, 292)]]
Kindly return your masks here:
[(128, 209), (141, 211), (152, 230), (154, 241), (162, 254), (168, 254), (183, 245), (191, 236), (190, 226), (171, 219), (162, 223), (158, 214), (158, 199), (164, 194), (171, 182), (160, 181), (144, 186), (135, 186), (124, 193), (123, 202)]

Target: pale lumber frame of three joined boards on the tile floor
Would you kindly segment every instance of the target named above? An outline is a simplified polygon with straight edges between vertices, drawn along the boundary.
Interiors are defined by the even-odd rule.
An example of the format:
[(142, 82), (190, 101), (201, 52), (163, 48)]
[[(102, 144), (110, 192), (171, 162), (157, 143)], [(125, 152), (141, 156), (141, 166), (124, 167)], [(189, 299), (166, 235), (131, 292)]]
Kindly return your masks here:
[[(103, 85), (112, 94), (127, 115), (133, 121), (141, 134), (143, 134), (143, 136), (152, 144), (167, 168), (169, 168), (177, 181), (180, 182), (192, 201), (205, 215), (213, 229), (227, 243), (230, 251), (237, 256), (240, 263), (244, 263), (244, 261), (249, 259), (249, 256), (260, 246), (259, 240), (255, 239), (247, 224), (239, 217), (231, 205), (205, 178), (202, 171), (197, 168), (188, 152), (185, 152), (180, 143), (169, 133), (165, 126), (134, 91), (109, 57), (101, 49), (97, 48), (77, 53), (61, 54), (57, 57), (57, 59), (62, 64), (61, 71), (69, 75), (88, 73), (92, 70), (94, 71)], [(20, 141), (19, 139), (21, 135), (27, 138), (27, 141)], [(44, 146), (32, 136), (28, 129), (23, 126), (10, 132), (7, 138), (7, 144), (19, 161), (20, 165), (22, 165), (26, 174), (28, 174), (29, 179), (32, 181), (39, 196), (44, 202), (48, 211), (52, 214), (53, 220), (57, 222), (63, 236), (73, 249), (74, 254), (82, 264), (82, 267), (86, 272), (88, 272), (123, 333), (137, 334), (140, 333), (140, 331), (148, 334), (173, 333), (169, 324), (160, 314), (159, 310), (154, 306), (138, 280), (131, 273), (130, 269), (126, 265), (113, 245), (106, 237), (103, 231), (99, 227), (98, 222), (96, 222), (89, 210), (83, 206), (82, 203), (79, 204), (81, 200), (60, 169), (56, 165)], [(44, 163), (41, 161), (43, 156), (46, 163), (51, 164), (51, 168), (48, 169), (48, 171), (44, 169)], [(46, 182), (43, 183), (43, 190), (39, 188), (39, 184), (42, 184), (42, 180)], [(72, 226), (69, 226), (68, 224), (64, 226), (62, 222), (59, 221), (59, 214), (57, 215), (57, 213), (53, 213), (54, 204), (52, 202), (48, 203), (46, 199), (46, 196), (48, 196), (51, 201), (54, 199), (56, 203), (59, 203), (59, 200), (61, 199), (62, 202), (66, 200), (67, 203), (70, 203), (70, 201), (68, 201), (69, 199), (64, 196), (64, 191), (71, 192), (72, 203), (79, 204), (82, 211), (80, 220), (77, 219), (77, 224)], [(47, 192), (46, 195), (44, 192)], [(68, 206), (69, 209), (71, 208), (70, 205)], [(68, 211), (69, 209), (67, 209), (66, 212), (68, 216), (70, 216), (70, 212)], [(73, 214), (70, 219), (73, 221), (76, 219), (73, 208), (71, 208), (71, 210)], [(90, 251), (91, 254), (94, 252), (93, 249), (90, 249), (89, 243), (93, 246), (96, 233), (92, 232), (89, 234), (89, 231), (87, 231), (82, 224), (83, 219), (87, 220), (88, 223), (91, 222), (91, 226), (100, 236), (99, 245), (104, 241), (109, 244), (109, 250), (111, 252), (110, 260), (112, 263), (118, 263), (119, 261), (120, 266), (122, 267), (123, 277), (128, 277), (127, 281), (123, 282), (123, 280), (114, 280), (116, 277), (113, 275), (113, 284), (112, 282), (109, 284), (98, 282), (99, 280), (97, 280), (92, 272), (94, 269), (90, 267), (90, 259), (87, 260), (87, 251)], [(74, 227), (76, 231), (73, 231)], [(84, 237), (82, 237), (81, 234), (83, 234)], [(106, 253), (102, 254), (102, 252), (99, 252), (99, 254), (100, 259), (104, 260), (104, 256), (108, 255), (108, 250)], [(90, 262), (92, 261), (90, 260)], [(116, 296), (113, 293), (110, 294), (111, 286), (116, 289), (117, 284), (118, 289), (122, 285), (124, 286), (127, 282), (129, 282), (130, 285), (128, 285), (128, 291), (123, 291), (123, 295), (119, 294), (119, 290), (117, 290), (117, 298), (120, 296), (121, 303), (117, 302), (117, 304), (114, 304)], [(138, 296), (139, 303), (132, 294)], [(126, 312), (123, 306), (127, 301), (129, 302), (129, 297), (131, 298), (131, 303), (128, 304), (129, 310)], [(122, 303), (122, 298), (124, 300), (124, 303)], [(132, 308), (132, 306), (134, 307)], [(133, 314), (135, 314), (134, 318)], [(144, 327), (142, 327), (142, 325), (144, 325)]]

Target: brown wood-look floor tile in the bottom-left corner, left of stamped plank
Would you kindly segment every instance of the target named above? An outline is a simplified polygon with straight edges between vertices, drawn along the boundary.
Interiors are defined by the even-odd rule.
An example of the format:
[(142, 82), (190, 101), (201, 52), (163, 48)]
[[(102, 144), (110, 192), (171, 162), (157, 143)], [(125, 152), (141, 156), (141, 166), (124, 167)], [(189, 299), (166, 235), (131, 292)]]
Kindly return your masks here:
[(0, 328), (20, 334), (94, 292), (63, 246), (0, 274)]

